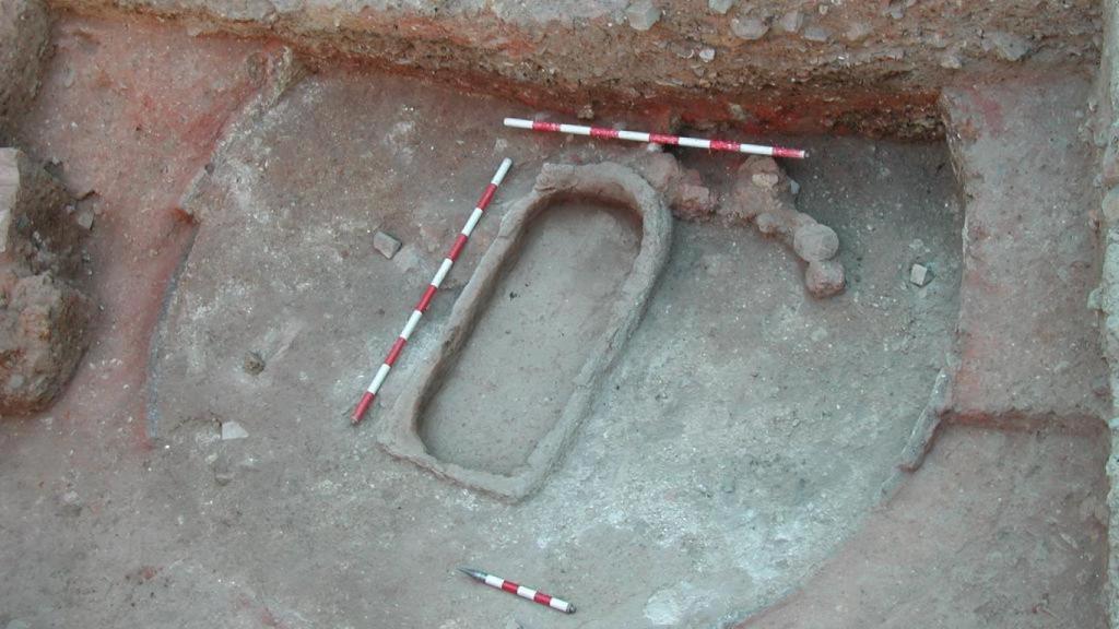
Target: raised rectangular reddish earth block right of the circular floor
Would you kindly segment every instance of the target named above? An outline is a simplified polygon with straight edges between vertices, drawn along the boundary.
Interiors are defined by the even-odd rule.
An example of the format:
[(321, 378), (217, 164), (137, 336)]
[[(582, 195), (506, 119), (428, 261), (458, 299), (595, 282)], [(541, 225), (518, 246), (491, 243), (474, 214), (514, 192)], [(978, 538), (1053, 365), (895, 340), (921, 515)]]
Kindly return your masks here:
[(1094, 432), (1107, 412), (1107, 366), (1087, 306), (1100, 278), (1093, 148), (1079, 133), (1088, 97), (1075, 74), (944, 93), (967, 203), (950, 402), (959, 420)]

